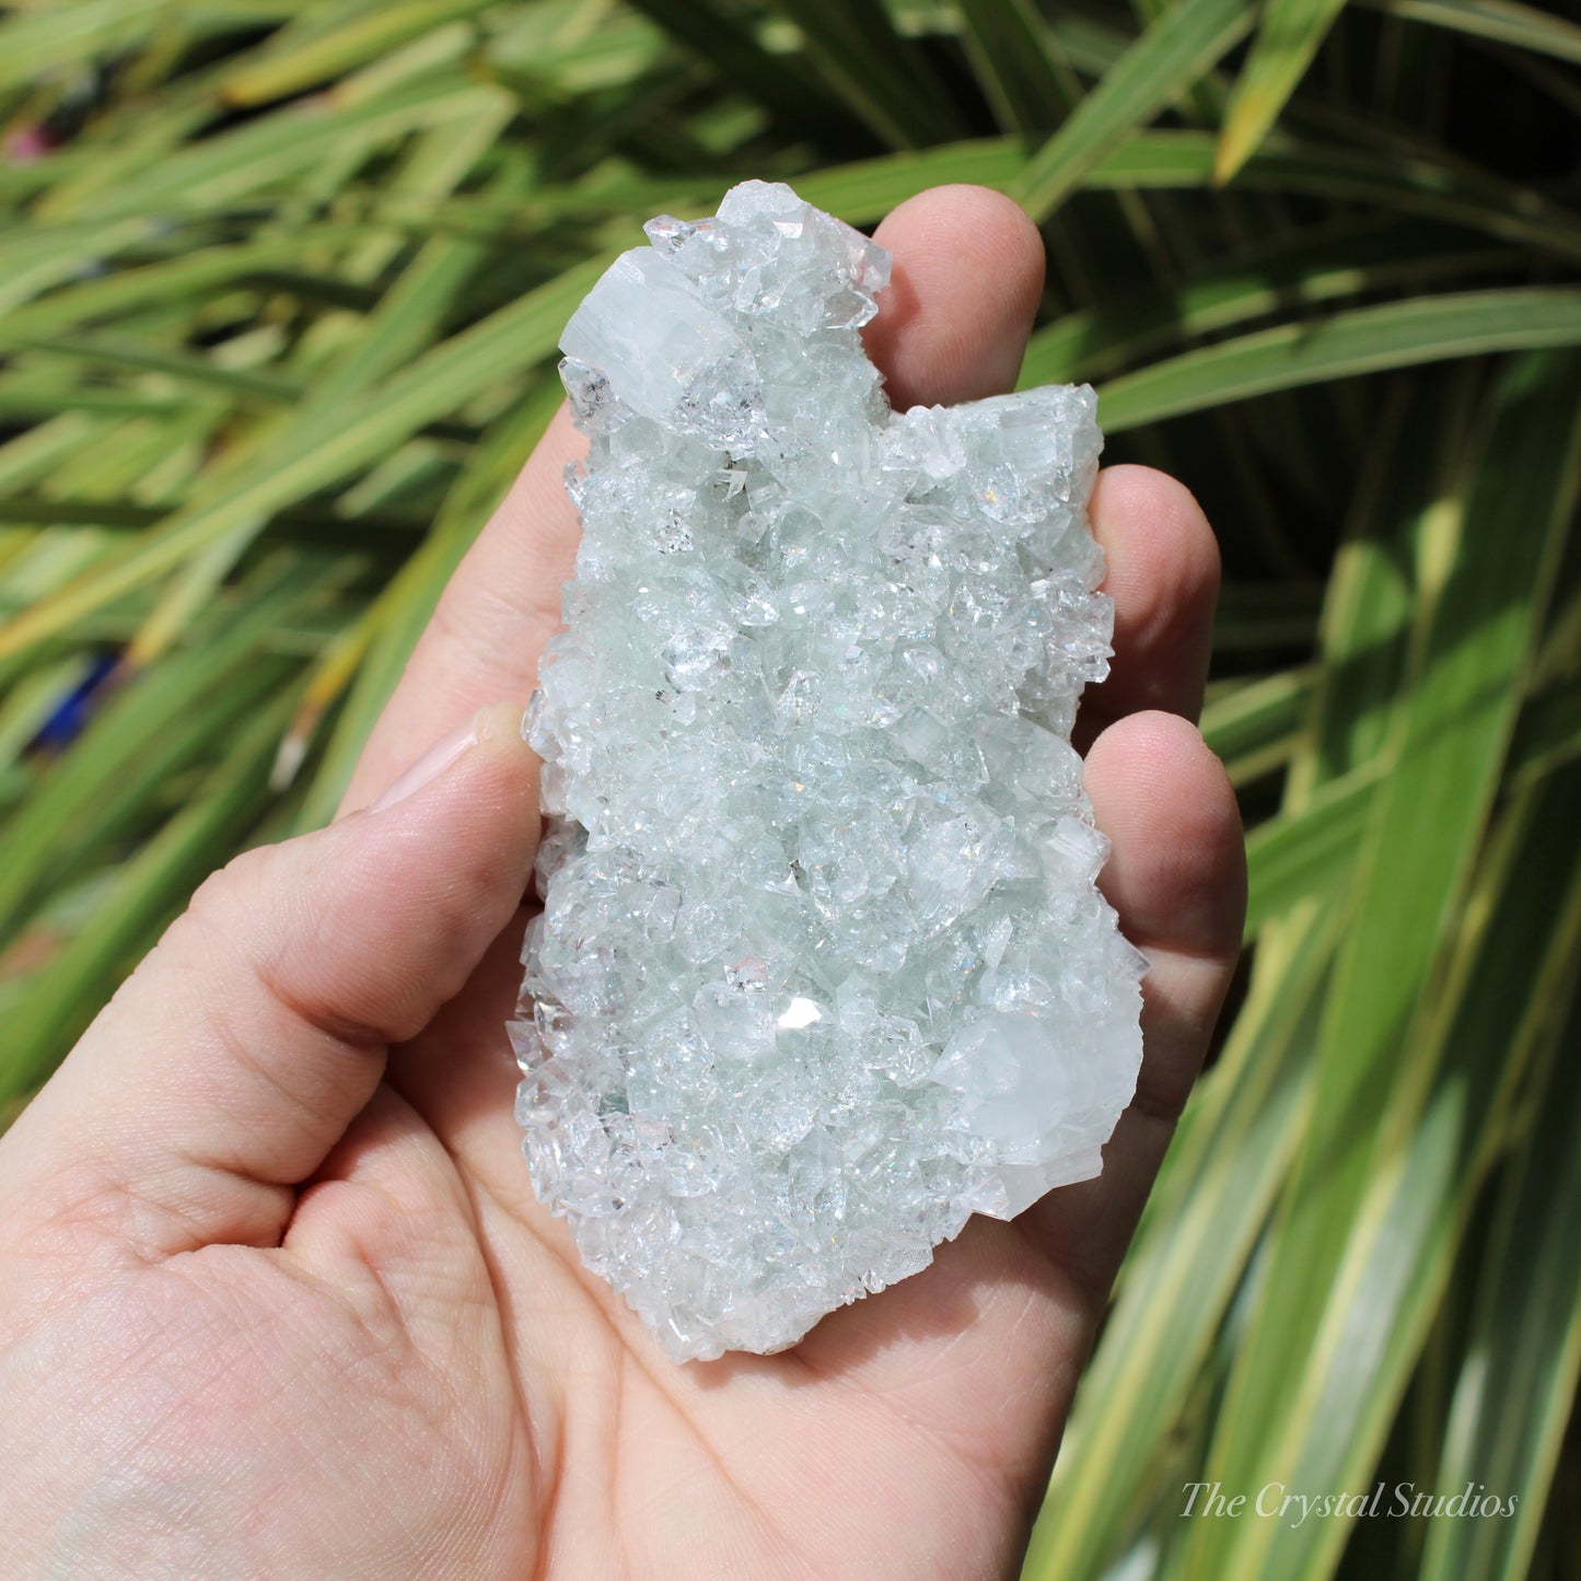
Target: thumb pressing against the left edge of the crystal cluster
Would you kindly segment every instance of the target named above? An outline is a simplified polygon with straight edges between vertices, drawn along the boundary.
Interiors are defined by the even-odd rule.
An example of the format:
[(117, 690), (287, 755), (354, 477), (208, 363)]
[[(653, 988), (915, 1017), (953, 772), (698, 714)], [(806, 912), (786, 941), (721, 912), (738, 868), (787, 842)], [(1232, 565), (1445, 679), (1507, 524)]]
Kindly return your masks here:
[(278, 1244), (387, 1047), (522, 901), (539, 816), (520, 718), (482, 710), (367, 811), (209, 879), (0, 1143), (0, 1213), (150, 1255)]

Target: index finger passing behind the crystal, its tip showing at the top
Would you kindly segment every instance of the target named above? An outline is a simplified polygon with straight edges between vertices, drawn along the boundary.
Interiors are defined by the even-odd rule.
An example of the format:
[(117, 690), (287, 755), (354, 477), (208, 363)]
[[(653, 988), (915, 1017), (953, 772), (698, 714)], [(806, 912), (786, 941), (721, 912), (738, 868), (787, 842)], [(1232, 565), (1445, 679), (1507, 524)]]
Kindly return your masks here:
[[(895, 255), (895, 269), (866, 343), (892, 402), (949, 405), (1007, 391), (1043, 286), (1042, 242), (1026, 215), (983, 187), (938, 187), (901, 204), (876, 240)], [(444, 590), (345, 808), (372, 802), (482, 704), (526, 700), (575, 566), (579, 528), (564, 470), (583, 449), (561, 408)]]

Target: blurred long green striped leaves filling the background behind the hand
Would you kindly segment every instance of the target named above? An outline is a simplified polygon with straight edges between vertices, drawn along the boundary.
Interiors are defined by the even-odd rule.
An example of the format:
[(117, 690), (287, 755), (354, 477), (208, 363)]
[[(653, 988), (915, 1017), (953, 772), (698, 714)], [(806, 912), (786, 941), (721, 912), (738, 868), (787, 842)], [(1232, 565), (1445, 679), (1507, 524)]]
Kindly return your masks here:
[(0, 1102), (329, 816), (642, 218), (985, 182), (1221, 530), (1252, 871), (1026, 1573), (1581, 1575), (1578, 126), (1511, 0), (0, 8)]

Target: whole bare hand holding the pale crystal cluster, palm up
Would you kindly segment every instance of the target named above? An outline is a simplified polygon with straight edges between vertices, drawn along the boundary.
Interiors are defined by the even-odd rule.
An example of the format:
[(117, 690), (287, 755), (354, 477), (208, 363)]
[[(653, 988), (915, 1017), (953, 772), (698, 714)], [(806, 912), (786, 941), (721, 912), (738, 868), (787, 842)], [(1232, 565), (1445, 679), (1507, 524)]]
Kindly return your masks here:
[[(1020, 210), (941, 188), (879, 237), (896, 405), (1007, 389), (1043, 267)], [(210, 879), (0, 1143), (5, 1575), (1015, 1572), (1240, 945), (1235, 798), (1190, 723), (1213, 534), (1170, 479), (1102, 474), (1116, 655), (1080, 732), (1104, 887), (1153, 960), (1102, 1176), (974, 1219), (784, 1355), (677, 1368), (533, 1200), (501, 1034), (575, 447), (561, 416), (348, 808), (471, 716), (468, 745)]]

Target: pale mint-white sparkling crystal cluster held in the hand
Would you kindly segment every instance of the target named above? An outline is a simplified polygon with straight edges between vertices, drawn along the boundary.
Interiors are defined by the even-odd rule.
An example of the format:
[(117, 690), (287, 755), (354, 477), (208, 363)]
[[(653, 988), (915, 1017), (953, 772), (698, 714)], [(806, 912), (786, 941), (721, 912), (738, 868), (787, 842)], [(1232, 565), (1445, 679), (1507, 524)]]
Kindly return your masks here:
[(1092, 392), (892, 413), (889, 256), (789, 187), (647, 232), (561, 341), (591, 451), (512, 1039), (539, 1198), (688, 1360), (1096, 1175), (1145, 963), (1070, 746)]

